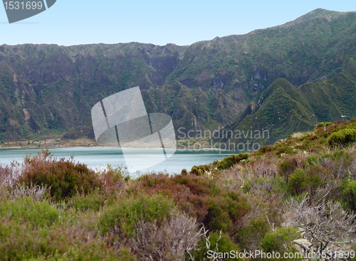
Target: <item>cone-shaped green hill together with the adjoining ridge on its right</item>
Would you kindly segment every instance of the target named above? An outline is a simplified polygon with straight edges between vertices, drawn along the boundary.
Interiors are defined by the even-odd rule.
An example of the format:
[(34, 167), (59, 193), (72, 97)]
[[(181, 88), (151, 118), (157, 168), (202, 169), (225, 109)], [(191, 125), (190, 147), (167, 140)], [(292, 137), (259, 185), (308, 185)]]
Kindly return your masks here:
[(269, 137), (253, 139), (263, 145), (284, 139), (293, 132), (311, 130), (318, 122), (352, 119), (356, 117), (355, 69), (356, 64), (351, 61), (342, 73), (298, 88), (286, 79), (277, 79), (262, 93), (254, 110), (249, 107), (240, 121), (224, 131), (268, 129)]

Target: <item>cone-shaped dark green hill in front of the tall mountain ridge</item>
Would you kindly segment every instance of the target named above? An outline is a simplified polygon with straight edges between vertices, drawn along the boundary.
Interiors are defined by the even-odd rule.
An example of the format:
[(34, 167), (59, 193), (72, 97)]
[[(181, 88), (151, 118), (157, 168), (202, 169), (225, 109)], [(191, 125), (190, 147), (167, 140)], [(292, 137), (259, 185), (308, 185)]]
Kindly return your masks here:
[[(224, 131), (233, 129), (234, 133), (244, 131), (257, 134), (257, 132), (268, 130), (269, 134), (266, 133), (262, 141), (260, 137), (253, 139), (264, 144), (288, 136), (290, 134), (288, 132), (313, 129), (315, 122), (312, 115), (313, 111), (308, 102), (303, 100), (300, 91), (288, 80), (279, 78), (263, 92), (260, 102), (251, 114), (244, 117), (236, 126), (226, 127)], [(223, 137), (222, 134), (221, 137)], [(251, 136), (248, 135), (248, 137)], [(241, 137), (236, 142), (245, 140), (245, 137)]]

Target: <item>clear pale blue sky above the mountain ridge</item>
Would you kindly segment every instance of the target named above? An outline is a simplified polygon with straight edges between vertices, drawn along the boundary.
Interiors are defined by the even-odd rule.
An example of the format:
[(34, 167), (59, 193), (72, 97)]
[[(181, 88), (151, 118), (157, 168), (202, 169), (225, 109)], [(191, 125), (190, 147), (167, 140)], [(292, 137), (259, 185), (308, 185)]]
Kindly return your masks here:
[(277, 26), (317, 8), (356, 11), (356, 1), (57, 0), (51, 9), (11, 24), (0, 7), (0, 44), (184, 46)]

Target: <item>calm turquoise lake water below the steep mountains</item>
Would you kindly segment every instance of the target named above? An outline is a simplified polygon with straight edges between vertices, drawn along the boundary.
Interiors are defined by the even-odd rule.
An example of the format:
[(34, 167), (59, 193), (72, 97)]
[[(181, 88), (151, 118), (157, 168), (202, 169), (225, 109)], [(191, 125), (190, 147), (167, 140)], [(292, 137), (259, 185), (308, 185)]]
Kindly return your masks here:
[[(112, 166), (125, 166), (125, 159), (122, 151), (118, 148), (103, 148), (103, 147), (76, 147), (76, 148), (58, 148), (49, 149), (52, 154), (57, 158), (69, 159), (70, 156), (74, 156), (76, 162), (80, 162), (88, 165), (91, 169), (103, 169), (108, 164)], [(23, 157), (26, 154), (37, 154), (38, 149), (0, 149), (0, 164), (10, 164), (11, 161), (23, 161)], [(135, 159), (140, 158), (140, 154), (145, 154), (145, 149), (130, 149), (130, 155)], [(152, 152), (150, 152), (152, 154)], [(209, 164), (217, 159), (222, 159), (239, 151), (220, 151), (217, 149), (177, 149), (173, 156), (169, 159), (152, 166), (148, 169), (142, 169), (140, 166), (144, 163), (142, 160), (137, 160), (135, 167), (142, 169), (140, 173), (131, 174), (133, 176), (138, 174), (145, 174), (151, 171), (167, 171), (169, 174), (181, 173), (182, 169), (190, 171), (192, 166)], [(154, 154), (154, 152), (153, 152)], [(127, 154), (125, 154), (127, 156)]]

